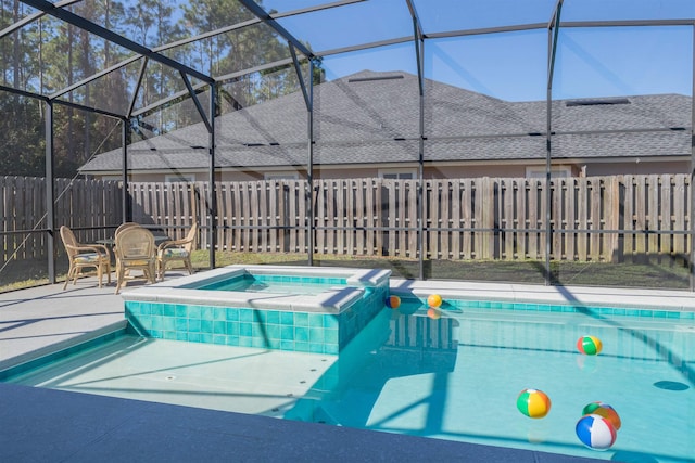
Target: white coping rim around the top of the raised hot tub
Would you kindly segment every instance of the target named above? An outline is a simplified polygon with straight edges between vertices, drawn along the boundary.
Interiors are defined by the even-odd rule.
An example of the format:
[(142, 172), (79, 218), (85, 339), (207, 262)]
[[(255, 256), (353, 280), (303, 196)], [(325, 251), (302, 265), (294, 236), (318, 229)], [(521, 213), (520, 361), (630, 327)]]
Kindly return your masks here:
[[(247, 270), (251, 270), (256, 274), (301, 273), (302, 276), (341, 278), (345, 279), (350, 286), (330, 288), (317, 295), (243, 293), (197, 290), (193, 287), (193, 285), (212, 284), (223, 279), (240, 275)], [(131, 291), (123, 291), (122, 297), (126, 301), (139, 303), (188, 303), (205, 306), (341, 313), (359, 300), (364, 288), (383, 284), (384, 281), (389, 280), (390, 275), (390, 270), (382, 269), (232, 265)]]

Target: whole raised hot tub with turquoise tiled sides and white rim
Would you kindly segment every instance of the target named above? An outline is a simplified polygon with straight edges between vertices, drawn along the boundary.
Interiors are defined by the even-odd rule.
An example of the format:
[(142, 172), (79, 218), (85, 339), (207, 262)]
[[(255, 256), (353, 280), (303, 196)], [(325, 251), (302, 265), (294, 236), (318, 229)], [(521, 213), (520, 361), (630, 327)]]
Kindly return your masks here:
[(229, 266), (123, 292), (141, 335), (338, 353), (383, 308), (390, 270)]

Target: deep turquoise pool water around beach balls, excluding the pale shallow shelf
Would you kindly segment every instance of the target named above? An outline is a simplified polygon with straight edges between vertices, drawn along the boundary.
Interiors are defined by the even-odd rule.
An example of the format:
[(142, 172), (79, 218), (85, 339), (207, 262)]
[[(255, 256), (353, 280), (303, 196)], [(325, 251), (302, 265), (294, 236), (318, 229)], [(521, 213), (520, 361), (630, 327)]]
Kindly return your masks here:
[[(468, 442), (618, 461), (695, 461), (695, 322), (538, 311), (402, 306), (388, 339), (358, 374), (296, 419)], [(597, 356), (577, 340), (593, 335)], [(551, 398), (544, 419), (521, 414), (525, 388)], [(574, 430), (602, 401), (621, 417), (607, 451)], [(313, 406), (313, 407), (312, 407)], [(303, 408), (303, 409), (302, 409)], [(302, 413), (304, 416), (302, 416)]]

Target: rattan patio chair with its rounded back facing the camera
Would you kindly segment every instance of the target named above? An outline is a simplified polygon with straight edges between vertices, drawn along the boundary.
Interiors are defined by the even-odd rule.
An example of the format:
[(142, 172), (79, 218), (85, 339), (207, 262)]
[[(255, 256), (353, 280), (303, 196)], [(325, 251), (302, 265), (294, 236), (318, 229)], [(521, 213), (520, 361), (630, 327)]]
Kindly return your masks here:
[(142, 227), (128, 227), (115, 236), (116, 294), (127, 281), (136, 280), (131, 270), (141, 270), (142, 280), (154, 283), (156, 279), (156, 248), (154, 235)]

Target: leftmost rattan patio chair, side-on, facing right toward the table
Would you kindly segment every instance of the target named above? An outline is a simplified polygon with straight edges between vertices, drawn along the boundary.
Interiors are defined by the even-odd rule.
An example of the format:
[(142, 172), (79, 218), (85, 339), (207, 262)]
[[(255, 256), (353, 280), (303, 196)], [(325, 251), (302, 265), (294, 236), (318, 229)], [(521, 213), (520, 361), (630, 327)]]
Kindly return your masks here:
[(70, 269), (67, 270), (63, 290), (67, 287), (71, 279), (73, 284), (77, 284), (77, 276), (83, 274), (83, 270), (87, 268), (97, 270), (99, 287), (101, 287), (104, 272), (109, 283), (111, 283), (111, 254), (106, 246), (103, 244), (79, 243), (75, 237), (75, 233), (66, 226), (62, 226), (60, 232), (65, 253), (67, 253), (67, 258), (70, 259)]

